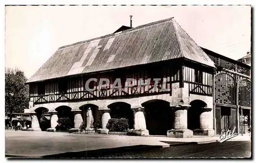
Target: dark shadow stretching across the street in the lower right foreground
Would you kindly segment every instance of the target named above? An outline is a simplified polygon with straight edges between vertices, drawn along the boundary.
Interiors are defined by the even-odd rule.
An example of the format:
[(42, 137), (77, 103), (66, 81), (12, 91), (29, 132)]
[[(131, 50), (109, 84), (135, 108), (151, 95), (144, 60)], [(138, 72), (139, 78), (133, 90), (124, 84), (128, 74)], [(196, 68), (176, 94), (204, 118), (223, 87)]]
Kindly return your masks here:
[[(194, 144), (171, 146), (168, 148), (155, 148), (145, 150), (114, 151), (108, 154), (89, 152), (88, 157), (104, 158), (202, 158), (202, 157), (250, 157), (251, 143), (246, 141), (228, 141), (224, 143)], [(80, 153), (82, 154), (82, 153)], [(70, 154), (79, 157), (79, 154)]]

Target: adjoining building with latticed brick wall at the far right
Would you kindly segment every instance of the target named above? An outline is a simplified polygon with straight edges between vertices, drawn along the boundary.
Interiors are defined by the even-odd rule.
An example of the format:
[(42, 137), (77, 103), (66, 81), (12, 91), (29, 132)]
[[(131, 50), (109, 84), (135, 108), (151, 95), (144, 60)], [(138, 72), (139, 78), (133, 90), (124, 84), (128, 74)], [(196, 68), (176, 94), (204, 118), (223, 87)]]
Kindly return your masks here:
[(237, 128), (246, 133), (251, 121), (251, 67), (215, 52), (204, 49), (215, 62), (215, 118), (216, 133)]

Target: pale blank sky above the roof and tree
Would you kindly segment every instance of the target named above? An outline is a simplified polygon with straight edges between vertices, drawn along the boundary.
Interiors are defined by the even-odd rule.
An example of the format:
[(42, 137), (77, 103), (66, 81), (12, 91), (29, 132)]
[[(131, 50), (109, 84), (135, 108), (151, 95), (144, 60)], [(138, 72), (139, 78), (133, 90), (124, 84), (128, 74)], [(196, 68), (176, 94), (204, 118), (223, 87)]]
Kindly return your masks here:
[(5, 66), (30, 78), (63, 45), (174, 17), (203, 48), (232, 59), (251, 49), (250, 6), (7, 6)]

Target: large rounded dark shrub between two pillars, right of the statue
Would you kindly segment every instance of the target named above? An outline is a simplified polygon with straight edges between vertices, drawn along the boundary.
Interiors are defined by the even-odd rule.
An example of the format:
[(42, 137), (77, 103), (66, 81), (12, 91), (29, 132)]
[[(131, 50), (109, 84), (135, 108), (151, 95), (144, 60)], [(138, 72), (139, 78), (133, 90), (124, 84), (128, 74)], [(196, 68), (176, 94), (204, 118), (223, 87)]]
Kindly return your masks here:
[(129, 128), (129, 122), (125, 118), (112, 118), (109, 120), (108, 124), (106, 124), (106, 128), (111, 132), (125, 132)]

